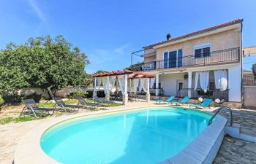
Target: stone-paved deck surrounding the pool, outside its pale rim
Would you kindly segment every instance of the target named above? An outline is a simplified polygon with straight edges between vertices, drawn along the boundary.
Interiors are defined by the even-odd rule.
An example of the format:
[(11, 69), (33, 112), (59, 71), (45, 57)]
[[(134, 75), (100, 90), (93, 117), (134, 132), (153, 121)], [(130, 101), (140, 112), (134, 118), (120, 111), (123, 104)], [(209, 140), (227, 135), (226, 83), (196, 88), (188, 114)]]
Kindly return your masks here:
[[(145, 102), (130, 102), (125, 106), (125, 108), (137, 108), (154, 105), (154, 101), (151, 103)], [(187, 106), (186, 106), (187, 107)], [(108, 111), (116, 111), (118, 109), (124, 109), (124, 106), (115, 106), (105, 108)], [(217, 108), (208, 109), (208, 111), (214, 111)], [(84, 113), (84, 111), (81, 110)], [(105, 110), (97, 111), (96, 113), (102, 113)], [(90, 112), (87, 112), (90, 113)], [(241, 133), (246, 133), (249, 135), (256, 134), (256, 110), (247, 110), (247, 109), (234, 109), (234, 122), (238, 122), (241, 125)], [(72, 116), (79, 115), (72, 114)], [(226, 112), (222, 113), (223, 115)], [(20, 122), (20, 123), (10, 123), (7, 125), (0, 125), (0, 163), (2, 164), (11, 164), (16, 146), (18, 141), (20, 141), (23, 136), (29, 131), (37, 127), (44, 127), (48, 125), (49, 122), (54, 120), (59, 120), (60, 118), (68, 118), (71, 114), (62, 115), (60, 117), (48, 117), (42, 120), (34, 120), (29, 122)], [(222, 142), (222, 146), (219, 150), (219, 153), (214, 160), (214, 164), (217, 163), (256, 163), (256, 143), (243, 141), (236, 138), (225, 137)], [(247, 161), (247, 162), (246, 162)]]

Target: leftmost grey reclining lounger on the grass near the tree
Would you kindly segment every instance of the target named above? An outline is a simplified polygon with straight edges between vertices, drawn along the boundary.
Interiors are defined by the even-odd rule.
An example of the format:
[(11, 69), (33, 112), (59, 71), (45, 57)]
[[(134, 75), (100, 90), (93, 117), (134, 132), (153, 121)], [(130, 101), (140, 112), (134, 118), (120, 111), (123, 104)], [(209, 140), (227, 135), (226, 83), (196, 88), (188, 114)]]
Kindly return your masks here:
[[(20, 112), (21, 115), (25, 114), (32, 114), (34, 117), (37, 116), (37, 112), (40, 113), (39, 117), (42, 117), (42, 114), (47, 113), (48, 115), (53, 115), (55, 109), (48, 109), (48, 108), (39, 108), (36, 104), (36, 102), (33, 99), (26, 99), (26, 100), (21, 100), (25, 107), (22, 109)], [(50, 114), (52, 112), (52, 114)]]

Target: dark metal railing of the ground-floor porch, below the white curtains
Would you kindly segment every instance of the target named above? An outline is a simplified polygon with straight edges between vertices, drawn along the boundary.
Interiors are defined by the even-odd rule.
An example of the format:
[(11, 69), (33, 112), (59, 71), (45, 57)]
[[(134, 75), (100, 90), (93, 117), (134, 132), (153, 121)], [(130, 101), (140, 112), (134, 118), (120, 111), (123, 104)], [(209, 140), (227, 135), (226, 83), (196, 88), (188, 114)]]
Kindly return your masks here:
[(176, 96), (178, 96), (179, 98), (187, 95), (190, 95), (190, 98), (219, 98), (228, 101), (228, 90), (207, 90), (207, 92), (205, 93), (203, 90), (195, 90), (194, 88), (182, 88), (176, 93)]

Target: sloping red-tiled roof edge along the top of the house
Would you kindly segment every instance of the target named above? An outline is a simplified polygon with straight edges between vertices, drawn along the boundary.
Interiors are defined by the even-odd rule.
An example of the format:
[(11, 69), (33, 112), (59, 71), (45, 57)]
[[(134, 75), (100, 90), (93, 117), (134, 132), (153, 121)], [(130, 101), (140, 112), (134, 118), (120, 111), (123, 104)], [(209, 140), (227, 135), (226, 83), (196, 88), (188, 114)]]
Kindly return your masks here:
[[(195, 36), (197, 34), (203, 34), (203, 33), (206, 33), (208, 31), (214, 31), (214, 30), (217, 30), (219, 28), (223, 28), (223, 27), (226, 27), (226, 26), (231, 26), (233, 24), (242, 23), (242, 22), (243, 22), (243, 19), (232, 20), (232, 21), (227, 22), (227, 23), (222, 23), (220, 25), (212, 26), (210, 28), (205, 28), (205, 29), (200, 30), (200, 31), (195, 31), (195, 32), (192, 32), (192, 33), (189, 33), (189, 34), (177, 36), (177, 37), (171, 38), (170, 40), (165, 40), (165, 41), (162, 41), (162, 42), (151, 44), (151, 45), (148, 45), (146, 47), (154, 47), (154, 46), (157, 46), (159, 44), (165, 44), (167, 42), (173, 42), (173, 41), (176, 41), (176, 40), (179, 40), (179, 39), (184, 39), (184, 38), (187, 38), (187, 37), (190, 37), (190, 36)], [(146, 48), (146, 47), (143, 47), (143, 48)]]

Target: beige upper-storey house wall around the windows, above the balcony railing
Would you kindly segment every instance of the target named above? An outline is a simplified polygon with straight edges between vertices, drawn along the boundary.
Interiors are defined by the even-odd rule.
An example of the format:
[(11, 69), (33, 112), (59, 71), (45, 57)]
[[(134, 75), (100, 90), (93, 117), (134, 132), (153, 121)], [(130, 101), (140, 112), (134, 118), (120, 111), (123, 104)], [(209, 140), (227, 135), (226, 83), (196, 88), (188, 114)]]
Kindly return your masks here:
[(182, 49), (183, 56), (193, 55), (194, 46), (205, 43), (211, 43), (211, 51), (240, 47), (240, 28), (234, 28), (218, 34), (211, 34), (197, 39), (159, 47), (157, 48), (157, 60), (163, 60), (164, 52), (179, 49)]

